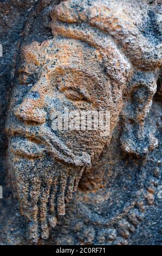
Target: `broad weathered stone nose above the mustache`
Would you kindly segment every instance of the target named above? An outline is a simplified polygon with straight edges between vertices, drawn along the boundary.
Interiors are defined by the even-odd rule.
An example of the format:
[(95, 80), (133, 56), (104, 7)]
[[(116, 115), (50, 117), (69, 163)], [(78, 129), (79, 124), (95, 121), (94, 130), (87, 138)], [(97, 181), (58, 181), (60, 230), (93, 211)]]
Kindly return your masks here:
[(14, 114), (24, 121), (43, 124), (46, 121), (46, 112), (43, 110), (44, 95), (31, 90), (23, 102), (16, 106)]

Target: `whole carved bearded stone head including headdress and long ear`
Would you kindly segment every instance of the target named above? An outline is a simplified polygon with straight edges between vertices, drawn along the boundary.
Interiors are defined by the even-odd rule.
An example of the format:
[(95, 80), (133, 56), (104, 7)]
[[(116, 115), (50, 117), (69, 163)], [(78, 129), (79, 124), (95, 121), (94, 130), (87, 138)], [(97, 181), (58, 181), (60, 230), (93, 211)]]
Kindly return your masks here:
[[(100, 189), (106, 169), (104, 163), (102, 168), (98, 165), (102, 155), (112, 150), (109, 147), (119, 123), (124, 154), (142, 161), (158, 146), (145, 120), (157, 92), (160, 42), (154, 44), (145, 36), (141, 21), (135, 23), (115, 0), (61, 1), (49, 4), (47, 15), (50, 38), (35, 40), (30, 35), (32, 20), (25, 28), (5, 126), (9, 173), (31, 243), (48, 239), (51, 227), (55, 230), (57, 220), (66, 218), (65, 208), (79, 182), (82, 191), (90, 191), (92, 184), (95, 191)], [(65, 107), (68, 111), (109, 111), (109, 134), (54, 131), (55, 112), (65, 115)], [(138, 210), (131, 213), (131, 209), (137, 204), (143, 209), (140, 202), (125, 209), (130, 210), (134, 225)], [(94, 225), (111, 223), (107, 217), (99, 221), (95, 214), (89, 218)], [(129, 230), (133, 226), (124, 215), (118, 225), (120, 235), (127, 239), (126, 226)], [(98, 233), (99, 243), (108, 243), (103, 237), (111, 237), (109, 241), (116, 237), (114, 228), (104, 232)]]

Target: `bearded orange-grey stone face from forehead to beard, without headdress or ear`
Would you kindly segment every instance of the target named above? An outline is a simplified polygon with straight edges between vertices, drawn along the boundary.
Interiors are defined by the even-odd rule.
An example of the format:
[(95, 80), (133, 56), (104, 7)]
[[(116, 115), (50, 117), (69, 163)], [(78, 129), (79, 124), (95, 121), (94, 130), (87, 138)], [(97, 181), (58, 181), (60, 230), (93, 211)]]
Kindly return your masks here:
[[(120, 91), (113, 95), (111, 80), (102, 68), (98, 52), (84, 42), (56, 38), (41, 45), (34, 42), (22, 48), (11, 101), (9, 153), (17, 190), (23, 197), (20, 198), (22, 212), (29, 221), (34, 210), (30, 209), (29, 214), (28, 201), (25, 202), (25, 209), (25, 192), (35, 193), (32, 198), (37, 203), (41, 184), (46, 183), (44, 187), (50, 193), (51, 188), (57, 186), (56, 179), (61, 176), (60, 189), (67, 192), (68, 200), (68, 191), (72, 193), (73, 187), (77, 187), (83, 168), (100, 156), (111, 138), (111, 135), (101, 136), (100, 131), (55, 132), (51, 128), (53, 114), (56, 111), (63, 113), (64, 107), (69, 111), (111, 110), (111, 125), (114, 126), (121, 109), (122, 89)], [(119, 98), (120, 104), (115, 104), (114, 96)], [(70, 187), (66, 189), (68, 182)], [(24, 191), (27, 187), (30, 187), (30, 192)], [(43, 195), (40, 200), (43, 200)], [(58, 203), (59, 212), (50, 209), (50, 217), (55, 217), (56, 213), (64, 214), (62, 200)], [(36, 225), (36, 220), (33, 222)], [(32, 225), (30, 233), (34, 235)]]

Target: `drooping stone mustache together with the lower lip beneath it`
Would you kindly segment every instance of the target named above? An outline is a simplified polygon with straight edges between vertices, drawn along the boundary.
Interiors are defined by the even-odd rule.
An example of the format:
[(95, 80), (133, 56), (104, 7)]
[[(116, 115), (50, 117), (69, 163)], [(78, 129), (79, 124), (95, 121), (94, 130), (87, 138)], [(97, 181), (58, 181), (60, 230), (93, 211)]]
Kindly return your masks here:
[[(38, 149), (38, 143), (33, 142), (33, 153), (30, 152), (30, 150), (20, 150), (21, 149), (21, 143), (19, 144), (19, 150), (15, 150), (15, 154), (21, 154), (26, 155), (30, 157), (37, 157), (39, 154), (42, 155), (45, 153), (45, 149), (47, 153), (51, 155), (55, 160), (63, 161), (67, 164), (73, 164), (77, 167), (86, 167), (90, 166), (91, 159), (90, 155), (86, 152), (83, 152), (82, 155), (75, 155), (71, 149), (69, 149), (61, 140), (59, 137), (57, 137), (46, 125), (40, 125), (37, 126), (37, 129), (35, 126), (30, 127), (21, 127), (16, 126), (14, 124), (11, 125), (7, 124), (5, 127), (5, 131), (7, 132), (8, 136), (11, 137), (11, 140), (15, 137), (24, 137), (26, 142), (23, 141), (23, 143), (27, 143), (27, 148), (31, 148), (31, 142), (37, 141), (40, 142), (44, 146), (43, 149)], [(16, 144), (15, 144), (16, 147)], [(25, 148), (25, 147), (23, 147)], [(14, 150), (14, 149), (13, 149)], [(21, 153), (22, 151), (22, 153)], [(34, 152), (38, 152), (38, 155)]]

